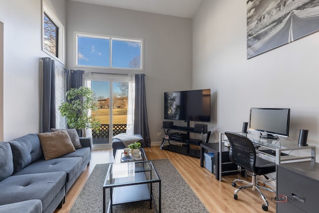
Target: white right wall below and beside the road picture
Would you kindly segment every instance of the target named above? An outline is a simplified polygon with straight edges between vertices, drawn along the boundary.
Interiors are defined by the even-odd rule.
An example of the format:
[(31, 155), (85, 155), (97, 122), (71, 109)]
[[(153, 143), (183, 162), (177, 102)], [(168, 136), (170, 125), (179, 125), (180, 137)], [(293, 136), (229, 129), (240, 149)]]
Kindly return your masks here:
[[(193, 19), (193, 88), (214, 95), (209, 129), (241, 131), (250, 107), (291, 108), (289, 140), (319, 146), (319, 32), (247, 60), (246, 1), (203, 0)], [(317, 155), (318, 158), (318, 155)]]

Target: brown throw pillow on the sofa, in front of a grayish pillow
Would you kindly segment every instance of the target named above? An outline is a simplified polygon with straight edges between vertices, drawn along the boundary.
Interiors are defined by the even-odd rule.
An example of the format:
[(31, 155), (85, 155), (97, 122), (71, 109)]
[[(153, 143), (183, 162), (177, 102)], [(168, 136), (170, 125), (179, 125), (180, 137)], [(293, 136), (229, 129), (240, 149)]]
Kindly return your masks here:
[(75, 152), (75, 148), (66, 130), (39, 133), (38, 135), (45, 160)]

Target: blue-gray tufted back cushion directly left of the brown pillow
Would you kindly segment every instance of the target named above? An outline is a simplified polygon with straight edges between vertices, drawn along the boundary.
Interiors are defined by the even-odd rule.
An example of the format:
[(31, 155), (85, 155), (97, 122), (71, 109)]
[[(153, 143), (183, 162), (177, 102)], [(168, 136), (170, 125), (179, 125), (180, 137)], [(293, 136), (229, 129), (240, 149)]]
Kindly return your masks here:
[(42, 157), (37, 134), (28, 134), (9, 141), (13, 156), (13, 174)]

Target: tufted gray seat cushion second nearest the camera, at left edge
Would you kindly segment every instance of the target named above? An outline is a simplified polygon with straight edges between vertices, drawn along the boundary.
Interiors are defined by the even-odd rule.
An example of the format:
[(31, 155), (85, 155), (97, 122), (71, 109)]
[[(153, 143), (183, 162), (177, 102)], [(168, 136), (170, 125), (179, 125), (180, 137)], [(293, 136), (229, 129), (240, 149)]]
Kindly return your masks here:
[(0, 182), (0, 205), (36, 199), (45, 210), (65, 190), (65, 181), (65, 172), (10, 176)]

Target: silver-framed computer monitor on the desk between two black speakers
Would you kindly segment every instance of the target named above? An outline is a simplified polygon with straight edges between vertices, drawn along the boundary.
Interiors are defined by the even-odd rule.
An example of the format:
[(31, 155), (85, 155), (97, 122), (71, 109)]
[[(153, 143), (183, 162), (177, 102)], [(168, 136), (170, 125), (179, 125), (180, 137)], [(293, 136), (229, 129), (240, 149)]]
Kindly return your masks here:
[[(261, 133), (261, 138), (278, 139), (289, 136), (290, 109), (288, 108), (251, 108), (249, 130)], [(267, 135), (262, 135), (266, 133)]]

